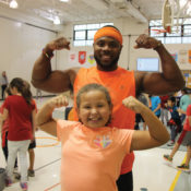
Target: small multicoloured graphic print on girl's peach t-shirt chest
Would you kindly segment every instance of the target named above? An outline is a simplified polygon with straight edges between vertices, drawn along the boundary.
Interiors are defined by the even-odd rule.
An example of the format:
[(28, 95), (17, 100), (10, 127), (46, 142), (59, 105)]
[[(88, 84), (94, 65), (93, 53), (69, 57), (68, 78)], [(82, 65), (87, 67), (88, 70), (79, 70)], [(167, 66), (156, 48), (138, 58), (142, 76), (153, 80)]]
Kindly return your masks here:
[(96, 135), (96, 139), (93, 142), (96, 146), (106, 148), (111, 144), (112, 140), (109, 135)]

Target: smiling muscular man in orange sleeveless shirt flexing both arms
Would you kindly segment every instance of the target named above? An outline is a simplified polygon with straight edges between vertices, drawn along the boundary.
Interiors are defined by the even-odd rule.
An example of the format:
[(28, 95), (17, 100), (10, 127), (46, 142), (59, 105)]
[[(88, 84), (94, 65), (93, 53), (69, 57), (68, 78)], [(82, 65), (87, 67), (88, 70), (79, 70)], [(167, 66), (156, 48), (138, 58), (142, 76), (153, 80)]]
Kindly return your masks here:
[[(36, 88), (51, 93), (62, 93), (73, 88), (74, 107), (79, 88), (87, 83), (99, 83), (109, 89), (114, 109), (111, 127), (133, 129), (134, 112), (124, 114), (121, 100), (128, 96), (147, 94), (167, 94), (177, 92), (184, 85), (184, 80), (176, 61), (160, 41), (147, 35), (140, 35), (135, 48), (154, 49), (162, 60), (163, 72), (147, 73), (127, 71), (118, 67), (122, 49), (122, 35), (114, 26), (104, 26), (94, 36), (94, 57), (97, 65), (71, 68), (64, 71), (52, 71), (50, 59), (53, 50), (70, 49), (70, 43), (61, 37), (50, 41), (36, 60), (32, 74), (32, 83)], [(77, 117), (75, 115), (75, 119)], [(119, 191), (133, 190), (132, 165), (134, 155), (128, 154), (121, 168), (117, 184)]]

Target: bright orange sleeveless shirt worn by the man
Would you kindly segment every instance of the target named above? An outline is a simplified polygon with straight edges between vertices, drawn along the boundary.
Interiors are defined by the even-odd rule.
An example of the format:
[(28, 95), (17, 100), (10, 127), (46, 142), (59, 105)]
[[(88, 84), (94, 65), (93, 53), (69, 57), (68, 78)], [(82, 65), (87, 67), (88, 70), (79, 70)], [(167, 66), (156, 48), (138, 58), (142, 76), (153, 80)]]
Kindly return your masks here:
[[(80, 69), (74, 81), (74, 107), (76, 107), (76, 93), (82, 86), (89, 83), (102, 84), (109, 91), (114, 105), (112, 119), (109, 126), (119, 129), (134, 129), (135, 114), (122, 105), (122, 100), (126, 97), (135, 96), (134, 72), (127, 71), (120, 67), (109, 72), (99, 71), (96, 67)], [(75, 109), (74, 118), (77, 120)], [(121, 174), (127, 174), (132, 170), (133, 160), (133, 153), (127, 155), (121, 167)]]

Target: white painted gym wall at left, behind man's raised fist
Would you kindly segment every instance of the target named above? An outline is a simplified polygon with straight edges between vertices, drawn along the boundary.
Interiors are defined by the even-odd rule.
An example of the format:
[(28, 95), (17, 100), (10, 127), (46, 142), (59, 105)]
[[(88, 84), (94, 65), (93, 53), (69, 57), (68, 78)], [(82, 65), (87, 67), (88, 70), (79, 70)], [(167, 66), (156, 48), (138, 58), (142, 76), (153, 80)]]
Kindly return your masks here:
[[(56, 38), (57, 34), (5, 17), (0, 17), (0, 74), (7, 71), (9, 82), (13, 77), (31, 82), (35, 60), (47, 41)], [(56, 58), (52, 68), (56, 69)], [(36, 95), (33, 86), (32, 92)]]

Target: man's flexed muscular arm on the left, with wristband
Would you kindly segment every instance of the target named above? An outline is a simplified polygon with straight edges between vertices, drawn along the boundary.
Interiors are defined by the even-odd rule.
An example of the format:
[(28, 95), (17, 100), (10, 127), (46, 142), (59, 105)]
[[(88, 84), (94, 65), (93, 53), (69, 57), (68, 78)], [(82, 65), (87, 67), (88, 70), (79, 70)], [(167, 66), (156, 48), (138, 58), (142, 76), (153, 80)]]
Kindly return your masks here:
[(36, 88), (51, 93), (61, 93), (69, 91), (71, 87), (77, 70), (51, 70), (51, 58), (53, 57), (53, 51), (61, 49), (70, 50), (70, 41), (64, 37), (48, 43), (43, 49), (40, 57), (34, 64), (32, 73), (32, 84)]

